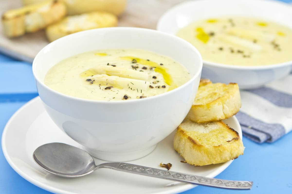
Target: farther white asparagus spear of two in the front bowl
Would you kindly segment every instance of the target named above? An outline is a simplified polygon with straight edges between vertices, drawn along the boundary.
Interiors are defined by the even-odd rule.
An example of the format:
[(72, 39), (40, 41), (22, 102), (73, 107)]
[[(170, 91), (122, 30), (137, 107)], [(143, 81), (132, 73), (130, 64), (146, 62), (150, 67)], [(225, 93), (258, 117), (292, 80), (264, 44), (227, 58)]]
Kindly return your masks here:
[(119, 77), (131, 78), (131, 79), (140, 79), (140, 80), (145, 80), (145, 81), (148, 80), (148, 74), (145, 72), (113, 67), (111, 65), (96, 66), (90, 70), (92, 70), (96, 74), (108, 74), (108, 75), (114, 75), (114, 76), (119, 76)]

